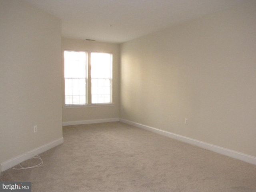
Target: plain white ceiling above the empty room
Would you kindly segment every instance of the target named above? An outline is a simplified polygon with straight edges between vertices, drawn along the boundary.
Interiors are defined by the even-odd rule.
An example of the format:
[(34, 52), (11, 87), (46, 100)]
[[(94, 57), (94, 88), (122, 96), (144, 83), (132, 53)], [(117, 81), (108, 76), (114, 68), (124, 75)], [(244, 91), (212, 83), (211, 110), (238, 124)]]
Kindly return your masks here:
[(122, 43), (245, 0), (25, 0), (62, 19), (62, 36)]

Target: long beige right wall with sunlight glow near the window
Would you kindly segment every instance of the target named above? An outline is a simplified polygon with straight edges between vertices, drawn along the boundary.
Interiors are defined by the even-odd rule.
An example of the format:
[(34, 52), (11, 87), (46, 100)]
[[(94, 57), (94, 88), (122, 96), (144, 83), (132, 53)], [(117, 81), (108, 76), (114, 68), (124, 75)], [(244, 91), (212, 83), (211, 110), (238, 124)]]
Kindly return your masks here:
[(256, 156), (255, 1), (126, 42), (120, 55), (120, 118)]

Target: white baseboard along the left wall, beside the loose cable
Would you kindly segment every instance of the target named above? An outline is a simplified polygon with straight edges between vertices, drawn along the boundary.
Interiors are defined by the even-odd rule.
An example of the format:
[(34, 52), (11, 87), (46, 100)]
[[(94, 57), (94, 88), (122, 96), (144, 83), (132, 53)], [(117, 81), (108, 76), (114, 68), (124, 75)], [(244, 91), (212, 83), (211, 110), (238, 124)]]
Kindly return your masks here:
[(19, 156), (16, 156), (16, 157), (14, 157), (10, 160), (7, 160), (7, 161), (3, 162), (0, 167), (2, 167), (2, 171), (8, 170), (9, 168), (12, 168), (13, 166), (16, 166), (16, 165), (20, 164), (21, 162), (31, 158), (31, 154), (29, 154), (29, 153), (38, 155), (42, 152), (45, 152), (45, 151), (47, 151), (51, 148), (54, 148), (54, 147), (62, 144), (63, 142), (64, 142), (64, 139), (62, 137), (62, 138), (57, 139), (53, 142), (50, 142), (48, 144), (45, 144), (45, 145), (40, 146), (38, 148), (35, 148), (34, 150), (28, 151), (28, 152), (26, 152), (22, 155), (19, 155)]

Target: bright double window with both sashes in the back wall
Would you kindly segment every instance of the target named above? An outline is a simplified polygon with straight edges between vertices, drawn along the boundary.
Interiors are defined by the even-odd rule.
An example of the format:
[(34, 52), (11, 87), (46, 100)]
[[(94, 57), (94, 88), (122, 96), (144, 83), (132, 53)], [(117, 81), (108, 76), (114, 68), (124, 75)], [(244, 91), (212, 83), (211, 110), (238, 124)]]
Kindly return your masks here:
[(112, 54), (92, 52), (89, 56), (64, 51), (66, 106), (112, 103)]

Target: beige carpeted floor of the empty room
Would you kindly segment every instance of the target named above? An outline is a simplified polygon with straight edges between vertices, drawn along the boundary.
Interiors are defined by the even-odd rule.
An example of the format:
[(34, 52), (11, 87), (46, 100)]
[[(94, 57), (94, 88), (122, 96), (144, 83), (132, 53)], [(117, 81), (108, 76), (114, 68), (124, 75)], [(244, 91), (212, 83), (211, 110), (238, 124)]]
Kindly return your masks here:
[(0, 180), (31, 181), (32, 192), (256, 192), (255, 165), (121, 122), (64, 126), (63, 135), (42, 166)]

